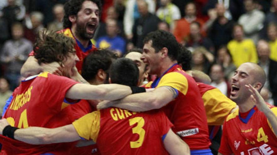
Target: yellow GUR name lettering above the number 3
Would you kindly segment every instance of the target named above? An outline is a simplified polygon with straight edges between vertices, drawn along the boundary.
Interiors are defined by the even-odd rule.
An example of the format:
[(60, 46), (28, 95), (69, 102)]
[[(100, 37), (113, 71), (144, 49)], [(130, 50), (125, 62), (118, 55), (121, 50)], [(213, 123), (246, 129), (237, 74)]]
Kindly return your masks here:
[(136, 112), (123, 110), (123, 109), (120, 109), (120, 108), (111, 108), (110, 109), (110, 116), (115, 121), (122, 120), (122, 119), (127, 118), (129, 116), (132, 116), (134, 114), (136, 114)]

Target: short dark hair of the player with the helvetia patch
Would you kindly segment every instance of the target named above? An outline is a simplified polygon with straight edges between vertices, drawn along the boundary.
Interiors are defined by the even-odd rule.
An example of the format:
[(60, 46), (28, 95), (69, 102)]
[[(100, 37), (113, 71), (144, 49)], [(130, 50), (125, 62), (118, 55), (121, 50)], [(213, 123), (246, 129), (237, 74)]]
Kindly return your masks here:
[(158, 53), (162, 48), (168, 49), (168, 56), (171, 60), (177, 60), (179, 54), (179, 45), (173, 34), (163, 30), (156, 30), (150, 32), (144, 38), (144, 44), (152, 41), (152, 47), (155, 49), (155, 53)]

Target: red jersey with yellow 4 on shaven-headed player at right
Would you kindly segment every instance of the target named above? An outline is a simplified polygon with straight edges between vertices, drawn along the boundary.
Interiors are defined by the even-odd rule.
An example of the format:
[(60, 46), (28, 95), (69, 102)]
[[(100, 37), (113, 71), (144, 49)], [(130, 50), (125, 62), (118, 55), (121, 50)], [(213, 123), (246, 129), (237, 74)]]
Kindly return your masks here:
[[(268, 106), (277, 116), (277, 107)], [(223, 124), (218, 152), (223, 155), (274, 155), (277, 154), (277, 138), (266, 116), (256, 106), (246, 113), (239, 113), (237, 109)]]

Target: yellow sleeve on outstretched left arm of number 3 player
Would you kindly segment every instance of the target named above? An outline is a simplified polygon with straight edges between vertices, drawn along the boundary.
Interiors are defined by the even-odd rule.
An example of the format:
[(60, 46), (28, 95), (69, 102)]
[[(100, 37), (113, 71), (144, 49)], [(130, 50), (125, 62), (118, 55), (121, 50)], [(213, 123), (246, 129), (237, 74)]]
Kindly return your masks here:
[(96, 142), (100, 130), (100, 111), (82, 116), (72, 124), (80, 137)]

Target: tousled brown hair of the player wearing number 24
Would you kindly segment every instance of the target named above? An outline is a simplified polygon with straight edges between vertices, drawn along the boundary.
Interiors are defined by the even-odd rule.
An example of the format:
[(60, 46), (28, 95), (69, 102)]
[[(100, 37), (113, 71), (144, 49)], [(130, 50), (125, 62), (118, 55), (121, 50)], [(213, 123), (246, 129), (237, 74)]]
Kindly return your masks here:
[(62, 33), (42, 30), (33, 46), (34, 56), (41, 63), (62, 62), (69, 53), (75, 53), (75, 41)]

